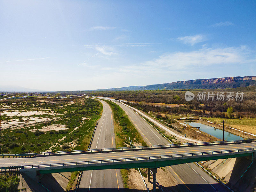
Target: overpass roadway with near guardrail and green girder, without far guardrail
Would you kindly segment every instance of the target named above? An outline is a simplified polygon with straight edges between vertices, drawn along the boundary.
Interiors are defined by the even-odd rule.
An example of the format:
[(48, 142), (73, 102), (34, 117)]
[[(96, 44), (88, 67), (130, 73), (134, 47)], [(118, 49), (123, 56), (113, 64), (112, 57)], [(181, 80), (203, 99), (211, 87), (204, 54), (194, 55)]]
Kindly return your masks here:
[[(237, 151), (237, 149), (248, 150)], [(227, 150), (231, 151), (229, 152)], [(209, 159), (248, 156), (252, 155), (255, 150), (256, 142), (251, 142), (186, 148), (148, 150), (141, 149), (136, 151), (120, 151), (66, 156), (0, 158), (0, 167), (24, 166), (21, 171), (40, 170), (42, 173), (137, 167), (155, 168), (166, 165), (182, 164)], [(212, 154), (212, 151), (216, 152)], [(202, 154), (202, 152), (205, 154)], [(192, 155), (192, 153), (194, 154)], [(184, 154), (184, 156), (182, 154)]]

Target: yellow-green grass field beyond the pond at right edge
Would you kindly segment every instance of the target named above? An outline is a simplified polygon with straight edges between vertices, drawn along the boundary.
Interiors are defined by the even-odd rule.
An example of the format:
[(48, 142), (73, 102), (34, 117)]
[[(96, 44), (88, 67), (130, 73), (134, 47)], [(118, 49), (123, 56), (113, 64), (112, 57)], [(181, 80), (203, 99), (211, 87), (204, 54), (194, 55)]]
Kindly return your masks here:
[[(221, 124), (223, 122), (223, 118), (212, 118), (212, 117), (201, 117), (207, 121), (216, 122)], [(239, 129), (241, 131), (249, 132), (252, 134), (256, 134), (256, 119), (255, 118), (244, 118), (244, 119), (224, 119), (224, 125), (229, 127)]]

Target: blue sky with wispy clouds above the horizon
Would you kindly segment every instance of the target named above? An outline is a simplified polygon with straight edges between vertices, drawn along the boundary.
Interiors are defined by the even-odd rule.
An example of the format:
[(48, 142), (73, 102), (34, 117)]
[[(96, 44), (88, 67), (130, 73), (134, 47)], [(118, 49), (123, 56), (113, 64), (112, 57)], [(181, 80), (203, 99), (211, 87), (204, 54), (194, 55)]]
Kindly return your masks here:
[(0, 85), (89, 90), (256, 75), (256, 1), (1, 1)]

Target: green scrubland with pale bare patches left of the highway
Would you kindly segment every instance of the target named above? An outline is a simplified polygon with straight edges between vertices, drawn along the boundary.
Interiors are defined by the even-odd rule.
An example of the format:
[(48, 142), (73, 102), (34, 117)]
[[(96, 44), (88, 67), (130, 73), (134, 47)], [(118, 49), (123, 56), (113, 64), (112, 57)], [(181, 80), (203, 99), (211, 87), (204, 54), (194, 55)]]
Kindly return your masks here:
[[(13, 99), (2, 103), (1, 108), (4, 107), (4, 104), (5, 106), (11, 106), (8, 112), (47, 111), (47, 115), (26, 116), (32, 120), (33, 117), (47, 117), (49, 119), (57, 117), (49, 121), (26, 124), (22, 120), (24, 116), (3, 116), (2, 122), (9, 123), (20, 119), (21, 124), (19, 127), (15, 125), (1, 132), (2, 153), (9, 154), (43, 152), (49, 149), (52, 151), (70, 150), (72, 148), (86, 149), (93, 128), (102, 113), (101, 103), (93, 99), (76, 99), (67, 106), (65, 106), (67, 104), (65, 101), (47, 103), (36, 100)], [(83, 118), (86, 119), (83, 120)], [(42, 131), (49, 126), (64, 126), (65, 129)], [(58, 145), (56, 145), (57, 143)], [(52, 147), (53, 145), (56, 146)]]

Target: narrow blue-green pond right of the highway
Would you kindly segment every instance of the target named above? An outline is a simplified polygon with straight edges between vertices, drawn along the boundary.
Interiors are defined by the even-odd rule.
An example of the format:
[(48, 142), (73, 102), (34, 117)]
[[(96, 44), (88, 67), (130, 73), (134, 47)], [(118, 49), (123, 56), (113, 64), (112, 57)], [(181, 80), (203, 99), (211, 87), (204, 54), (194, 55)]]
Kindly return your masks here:
[[(212, 135), (218, 139), (221, 139), (221, 140), (223, 139), (223, 130), (217, 129), (209, 125), (197, 123), (197, 122), (186, 122), (186, 123), (191, 125), (192, 127), (200, 127), (200, 131), (208, 133), (209, 135)], [(225, 141), (243, 140), (243, 137), (224, 131), (224, 140)]]

